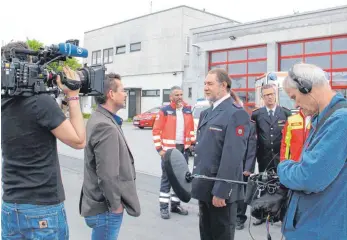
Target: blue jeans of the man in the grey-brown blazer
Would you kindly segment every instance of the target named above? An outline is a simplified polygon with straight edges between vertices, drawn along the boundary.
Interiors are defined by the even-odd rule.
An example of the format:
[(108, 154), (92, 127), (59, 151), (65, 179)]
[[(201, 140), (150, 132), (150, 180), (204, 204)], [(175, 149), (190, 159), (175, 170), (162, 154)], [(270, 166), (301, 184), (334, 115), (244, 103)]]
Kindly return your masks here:
[(92, 240), (116, 240), (123, 221), (123, 213), (105, 212), (85, 217), (88, 227), (93, 229)]

